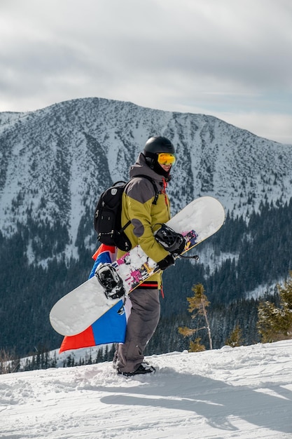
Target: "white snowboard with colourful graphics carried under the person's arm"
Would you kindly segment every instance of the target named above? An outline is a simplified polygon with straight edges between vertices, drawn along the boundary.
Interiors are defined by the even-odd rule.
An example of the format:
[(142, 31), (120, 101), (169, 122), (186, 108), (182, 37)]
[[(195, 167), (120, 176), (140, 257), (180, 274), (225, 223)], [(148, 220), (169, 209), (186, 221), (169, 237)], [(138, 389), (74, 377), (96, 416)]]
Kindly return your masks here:
[[(186, 239), (183, 253), (202, 243), (221, 228), (225, 219), (223, 205), (216, 198), (203, 196), (191, 201), (166, 223)], [(182, 253), (182, 254), (183, 254)], [(123, 280), (125, 294), (159, 271), (139, 245), (112, 263)], [(108, 299), (96, 276), (62, 297), (50, 311), (50, 323), (61, 335), (76, 335), (90, 327), (120, 301)], [(118, 312), (123, 312), (123, 306)]]

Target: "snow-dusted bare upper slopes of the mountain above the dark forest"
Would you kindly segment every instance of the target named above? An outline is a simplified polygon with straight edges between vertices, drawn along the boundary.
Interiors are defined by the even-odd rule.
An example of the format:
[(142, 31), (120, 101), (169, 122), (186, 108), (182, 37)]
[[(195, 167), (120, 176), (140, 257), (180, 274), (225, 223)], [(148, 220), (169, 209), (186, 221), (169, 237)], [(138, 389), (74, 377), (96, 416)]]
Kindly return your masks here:
[[(235, 214), (257, 209), (265, 199), (284, 202), (291, 196), (292, 144), (212, 116), (86, 98), (0, 114), (2, 234), (11, 236), (18, 222), (57, 222), (68, 229), (66, 252), (74, 255), (78, 227), (84, 229), (88, 217), (92, 224), (97, 196), (111, 182), (127, 179), (151, 135), (165, 135), (176, 146), (169, 184), (173, 213), (202, 195), (216, 196)], [(88, 228), (88, 244), (92, 233)], [(36, 261), (34, 245), (27, 255)]]

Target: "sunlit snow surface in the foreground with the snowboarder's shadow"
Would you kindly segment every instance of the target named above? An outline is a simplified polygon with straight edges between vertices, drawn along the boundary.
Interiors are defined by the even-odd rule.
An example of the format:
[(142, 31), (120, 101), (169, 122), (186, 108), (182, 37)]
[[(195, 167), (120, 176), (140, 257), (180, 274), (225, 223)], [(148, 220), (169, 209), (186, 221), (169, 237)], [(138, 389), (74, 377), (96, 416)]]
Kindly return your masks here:
[(292, 340), (0, 376), (0, 438), (291, 438)]

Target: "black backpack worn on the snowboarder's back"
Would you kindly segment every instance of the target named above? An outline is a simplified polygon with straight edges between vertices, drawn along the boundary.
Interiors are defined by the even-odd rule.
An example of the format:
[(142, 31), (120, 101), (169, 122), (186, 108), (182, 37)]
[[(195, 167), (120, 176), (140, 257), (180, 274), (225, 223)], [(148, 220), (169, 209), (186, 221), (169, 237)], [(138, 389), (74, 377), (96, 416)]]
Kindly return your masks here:
[[(160, 193), (151, 177), (136, 175), (151, 181), (155, 190), (153, 204), (157, 203)], [(122, 196), (128, 182), (118, 181), (106, 189), (97, 201), (95, 208), (94, 226), (97, 231), (97, 239), (106, 245), (115, 245), (125, 252), (131, 250), (131, 243), (124, 230), (130, 225), (130, 221), (121, 227)]]

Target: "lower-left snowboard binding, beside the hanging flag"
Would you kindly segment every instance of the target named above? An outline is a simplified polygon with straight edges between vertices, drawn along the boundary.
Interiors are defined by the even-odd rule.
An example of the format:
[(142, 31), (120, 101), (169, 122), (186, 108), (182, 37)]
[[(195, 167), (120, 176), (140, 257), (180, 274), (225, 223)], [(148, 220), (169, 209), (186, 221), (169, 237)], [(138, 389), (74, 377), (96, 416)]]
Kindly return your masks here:
[(95, 276), (104, 288), (107, 299), (120, 299), (125, 295), (123, 281), (111, 264), (99, 264)]

